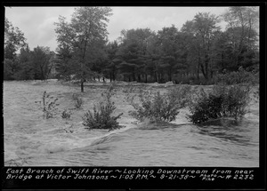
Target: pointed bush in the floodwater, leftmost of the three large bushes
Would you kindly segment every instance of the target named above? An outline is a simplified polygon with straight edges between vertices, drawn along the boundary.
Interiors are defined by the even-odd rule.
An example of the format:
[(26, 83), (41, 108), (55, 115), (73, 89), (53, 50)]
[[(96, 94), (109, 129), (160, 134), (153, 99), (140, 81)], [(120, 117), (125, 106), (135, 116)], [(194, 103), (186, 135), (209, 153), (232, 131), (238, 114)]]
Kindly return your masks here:
[(86, 129), (108, 129), (111, 131), (121, 128), (117, 119), (123, 114), (112, 116), (116, 109), (115, 103), (111, 101), (112, 95), (113, 85), (110, 85), (108, 90), (101, 94), (101, 101), (93, 106), (93, 112), (88, 110), (85, 113), (83, 124), (87, 126)]

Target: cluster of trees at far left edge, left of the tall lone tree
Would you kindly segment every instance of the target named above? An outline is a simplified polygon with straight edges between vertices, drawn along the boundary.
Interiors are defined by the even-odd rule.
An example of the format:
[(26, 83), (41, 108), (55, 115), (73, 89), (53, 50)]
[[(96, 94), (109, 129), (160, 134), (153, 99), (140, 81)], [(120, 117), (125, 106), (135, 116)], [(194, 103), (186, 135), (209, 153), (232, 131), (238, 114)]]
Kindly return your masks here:
[(54, 59), (49, 47), (30, 51), (24, 34), (5, 18), (4, 80), (45, 80), (53, 73)]

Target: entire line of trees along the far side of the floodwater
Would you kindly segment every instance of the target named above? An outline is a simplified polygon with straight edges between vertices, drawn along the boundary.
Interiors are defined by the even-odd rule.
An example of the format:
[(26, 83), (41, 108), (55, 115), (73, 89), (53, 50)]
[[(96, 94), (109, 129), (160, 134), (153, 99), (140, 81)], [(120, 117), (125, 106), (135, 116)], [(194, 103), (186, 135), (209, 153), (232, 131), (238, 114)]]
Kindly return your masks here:
[[(182, 28), (122, 30), (108, 41), (109, 7), (78, 7), (71, 20), (54, 23), (58, 47), (29, 51), (19, 28), (4, 25), (4, 79), (76, 79), (165, 83), (182, 79), (209, 81), (218, 73), (259, 68), (256, 7), (229, 7), (223, 15), (198, 12)], [(226, 28), (219, 24), (224, 21)], [(22, 47), (22, 48), (21, 48)], [(20, 48), (20, 53), (15, 52)]]

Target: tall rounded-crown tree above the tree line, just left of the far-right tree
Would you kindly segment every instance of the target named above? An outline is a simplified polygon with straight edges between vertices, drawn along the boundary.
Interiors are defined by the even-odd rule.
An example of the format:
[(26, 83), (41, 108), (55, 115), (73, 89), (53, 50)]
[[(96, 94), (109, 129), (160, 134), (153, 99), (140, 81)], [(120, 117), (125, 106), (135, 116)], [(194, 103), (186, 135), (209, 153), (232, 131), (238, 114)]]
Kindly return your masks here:
[[(217, 26), (219, 18), (209, 12), (199, 12), (194, 20), (187, 21), (182, 27), (182, 33), (189, 36), (190, 50), (187, 59), (197, 63), (197, 74), (201, 70), (206, 80), (212, 78), (215, 68), (214, 39), (220, 32)], [(198, 74), (199, 75), (199, 74)], [(198, 76), (199, 78), (199, 76)]]

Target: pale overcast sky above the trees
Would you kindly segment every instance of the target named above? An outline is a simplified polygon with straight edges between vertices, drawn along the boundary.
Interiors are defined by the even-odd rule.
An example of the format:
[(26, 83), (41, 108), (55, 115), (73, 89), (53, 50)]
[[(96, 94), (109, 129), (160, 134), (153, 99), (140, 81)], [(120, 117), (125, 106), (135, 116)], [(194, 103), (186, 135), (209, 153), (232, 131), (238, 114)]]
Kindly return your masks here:
[[(116, 40), (123, 29), (150, 28), (157, 32), (164, 27), (182, 28), (186, 20), (193, 20), (198, 12), (221, 15), (227, 7), (111, 7), (109, 41)], [(74, 7), (6, 7), (5, 17), (14, 27), (20, 28), (27, 38), (30, 50), (48, 46), (57, 47), (54, 22), (59, 16), (70, 19)], [(222, 25), (224, 26), (224, 25)]]

